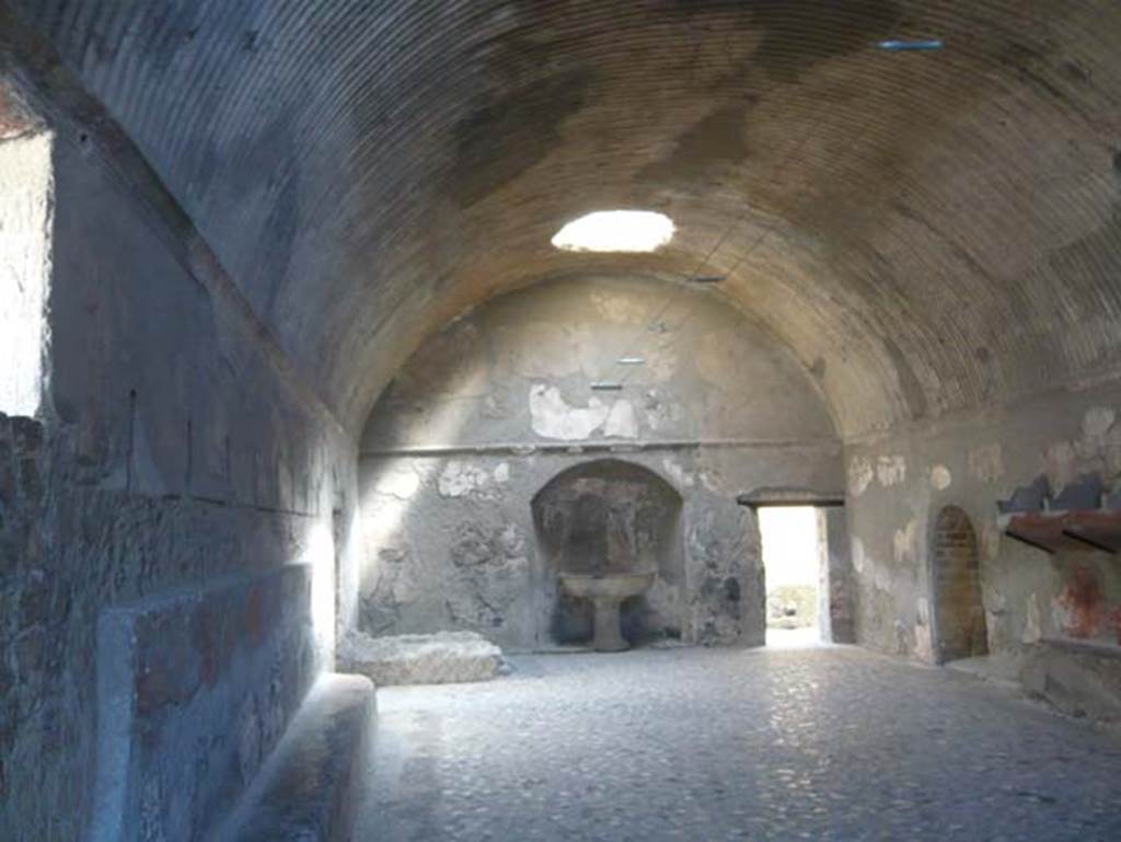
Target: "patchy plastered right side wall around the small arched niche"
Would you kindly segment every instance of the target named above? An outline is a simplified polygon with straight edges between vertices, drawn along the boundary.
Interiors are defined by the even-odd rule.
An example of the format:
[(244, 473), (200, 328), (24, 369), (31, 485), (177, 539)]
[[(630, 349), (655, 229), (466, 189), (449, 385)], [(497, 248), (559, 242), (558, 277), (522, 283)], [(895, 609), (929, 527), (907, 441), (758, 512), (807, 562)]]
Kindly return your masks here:
[[(1049, 555), (1002, 534), (997, 501), (1046, 475), (1058, 493), (1081, 474), (1121, 479), (1121, 389), (1041, 395), (845, 448), (849, 527), (862, 644), (936, 659), (935, 518), (961, 508), (976, 535), (988, 648), (1019, 654), (1041, 638), (1117, 646), (1114, 556)], [(1088, 549), (1088, 548), (1087, 548)]]

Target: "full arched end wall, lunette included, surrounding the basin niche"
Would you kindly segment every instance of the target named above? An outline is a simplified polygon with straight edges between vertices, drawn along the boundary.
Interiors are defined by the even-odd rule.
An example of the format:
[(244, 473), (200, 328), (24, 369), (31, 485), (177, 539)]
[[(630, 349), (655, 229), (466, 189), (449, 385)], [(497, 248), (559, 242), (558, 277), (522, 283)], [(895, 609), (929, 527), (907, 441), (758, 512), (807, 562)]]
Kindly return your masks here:
[[(623, 388), (595, 391), (596, 380)], [(677, 499), (659, 509), (673, 521), (659, 538), (665, 570), (631, 605), (647, 631), (761, 644), (758, 528), (735, 496), (837, 490), (840, 445), (810, 378), (766, 333), (715, 295), (648, 278), (569, 278), (498, 298), (398, 373), (363, 435), (362, 629), (472, 630), (510, 649), (566, 641), (564, 554), (531, 501), (601, 461)], [(613, 520), (601, 512), (622, 525), (615, 549), (650, 508), (620, 493), (603, 503)], [(638, 531), (654, 543), (652, 527)], [(624, 623), (634, 613), (624, 607)]]

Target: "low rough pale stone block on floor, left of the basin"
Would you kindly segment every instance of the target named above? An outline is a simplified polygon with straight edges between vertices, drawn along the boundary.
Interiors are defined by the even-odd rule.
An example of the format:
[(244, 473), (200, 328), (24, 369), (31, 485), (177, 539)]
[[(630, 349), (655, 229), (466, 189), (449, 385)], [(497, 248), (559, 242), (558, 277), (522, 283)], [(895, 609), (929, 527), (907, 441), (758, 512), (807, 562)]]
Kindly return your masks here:
[(487, 682), (504, 668), (502, 650), (473, 631), (378, 638), (353, 633), (343, 641), (340, 659), (348, 672), (379, 686)]

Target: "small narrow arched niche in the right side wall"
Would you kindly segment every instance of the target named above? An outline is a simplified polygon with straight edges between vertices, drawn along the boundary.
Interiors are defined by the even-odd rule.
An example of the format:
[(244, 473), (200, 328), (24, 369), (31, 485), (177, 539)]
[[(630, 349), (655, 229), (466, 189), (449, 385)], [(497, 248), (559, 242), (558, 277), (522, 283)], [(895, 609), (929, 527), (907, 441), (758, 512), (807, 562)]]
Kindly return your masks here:
[(976, 533), (956, 506), (946, 506), (935, 518), (930, 563), (938, 661), (988, 655)]

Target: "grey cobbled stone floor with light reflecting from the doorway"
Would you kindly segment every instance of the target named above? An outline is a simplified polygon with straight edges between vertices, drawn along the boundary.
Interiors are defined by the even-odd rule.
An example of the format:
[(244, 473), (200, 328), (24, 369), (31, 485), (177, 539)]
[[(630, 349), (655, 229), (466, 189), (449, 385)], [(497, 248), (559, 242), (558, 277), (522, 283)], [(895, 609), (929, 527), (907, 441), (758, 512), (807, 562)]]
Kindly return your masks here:
[(379, 691), (361, 842), (1121, 840), (1121, 741), (847, 647), (515, 659)]

